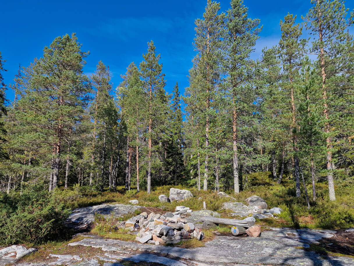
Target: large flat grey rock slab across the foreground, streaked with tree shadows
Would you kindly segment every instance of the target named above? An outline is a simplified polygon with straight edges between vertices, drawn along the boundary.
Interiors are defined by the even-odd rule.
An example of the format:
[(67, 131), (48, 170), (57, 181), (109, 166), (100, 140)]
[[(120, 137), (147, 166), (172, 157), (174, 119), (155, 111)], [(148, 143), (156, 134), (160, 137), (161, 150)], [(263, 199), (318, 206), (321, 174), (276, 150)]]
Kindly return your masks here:
[[(194, 249), (184, 249), (174, 246), (156, 246), (147, 244), (138, 244), (112, 239), (82, 239), (70, 245), (83, 245), (101, 248), (102, 250), (124, 249), (149, 253), (160, 257), (168, 255), (176, 260), (189, 260), (195, 262), (195, 265), (213, 264), (213, 265), (294, 265), (294, 266), (352, 266), (354, 259), (350, 257), (331, 257), (318, 255), (297, 246), (302, 246), (299, 242), (297, 246), (294, 243), (288, 243), (284, 237), (274, 237), (269, 235), (258, 238), (230, 238), (217, 236), (215, 239), (206, 242), (204, 247)], [(105, 254), (116, 259), (114, 255)], [(134, 257), (130, 255), (124, 257)], [(181, 262), (181, 261), (178, 261)], [(161, 262), (158, 262), (161, 263)], [(184, 263), (184, 262), (181, 262)], [(165, 264), (167, 265), (167, 264)], [(168, 264), (171, 265), (171, 264)], [(177, 264), (179, 266), (179, 264)]]

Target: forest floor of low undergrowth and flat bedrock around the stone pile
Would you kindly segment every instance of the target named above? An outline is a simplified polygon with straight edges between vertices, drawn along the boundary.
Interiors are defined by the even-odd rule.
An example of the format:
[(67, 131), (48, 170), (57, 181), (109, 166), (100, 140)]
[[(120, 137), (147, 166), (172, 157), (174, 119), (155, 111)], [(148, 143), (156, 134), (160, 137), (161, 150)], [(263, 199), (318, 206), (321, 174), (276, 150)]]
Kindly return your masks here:
[[(190, 207), (193, 211), (202, 210), (203, 201), (206, 202), (208, 210), (217, 211), (224, 218), (232, 217), (230, 211), (222, 209), (222, 204), (230, 198), (220, 197), (217, 193), (210, 191), (198, 191), (195, 188), (189, 189), (194, 195), (193, 199), (184, 200), (183, 203), (160, 203), (158, 196), (169, 195), (171, 187), (189, 189), (181, 185), (166, 185), (154, 187), (151, 194), (144, 191), (136, 192), (134, 189), (125, 192), (123, 187), (118, 187), (115, 192), (109, 190), (92, 192), (87, 187), (57, 190), (56, 193), (72, 209), (104, 203), (128, 204), (128, 201), (132, 199), (137, 199), (138, 205), (144, 208), (119, 218), (104, 219), (102, 216), (96, 216), (95, 223), (86, 228), (85, 233), (77, 234), (74, 238), (70, 237), (66, 240), (36, 245), (34, 247), (39, 251), (24, 257), (16, 265), (27, 266), (29, 263), (37, 263), (32, 266), (44, 266), (50, 263), (55, 265), (58, 257), (51, 256), (52, 253), (78, 255), (84, 261), (95, 260), (92, 264), (77, 264), (77, 266), (354, 265), (354, 232), (346, 231), (354, 227), (354, 202), (352, 200), (354, 186), (342, 187), (337, 184), (337, 200), (331, 202), (327, 199), (327, 185), (318, 183), (316, 184), (317, 200), (311, 201), (310, 209), (307, 209), (305, 196), (295, 197), (295, 184), (291, 179), (285, 177), (279, 185), (273, 181), (269, 172), (249, 175), (244, 191), (238, 195), (230, 192), (228, 194), (242, 203), (245, 203), (245, 199), (249, 196), (257, 195), (267, 202), (268, 209), (281, 207), (283, 210), (278, 217), (257, 219), (256, 224), (262, 226), (261, 238), (235, 238), (231, 235), (229, 226), (218, 226), (203, 230), (206, 238), (201, 242), (189, 239), (172, 246), (155, 247), (138, 244), (134, 241), (135, 235), (129, 234), (122, 228), (116, 228), (115, 225), (118, 222), (125, 221), (144, 210), (164, 213), (175, 211), (178, 205)], [(310, 185), (307, 189), (309, 193), (312, 192)], [(197, 200), (198, 198), (201, 199)], [(285, 231), (279, 234), (276, 228)], [(328, 232), (333, 233), (333, 237), (321, 238), (316, 242), (307, 242), (305, 245), (305, 242), (296, 239), (296, 235), (299, 235), (302, 228), (322, 229), (313, 230), (321, 233), (328, 231), (323, 229), (332, 229)], [(33, 247), (33, 245), (27, 245), (27, 247)], [(144, 254), (149, 254), (149, 256)], [(141, 256), (148, 257), (144, 257), (145, 260), (139, 260)], [(161, 256), (170, 258), (171, 261), (161, 261)], [(108, 264), (110, 262), (116, 264), (110, 265)], [(160, 262), (163, 263), (160, 264)], [(70, 263), (63, 261), (62, 265), (75, 265), (73, 261)]]

